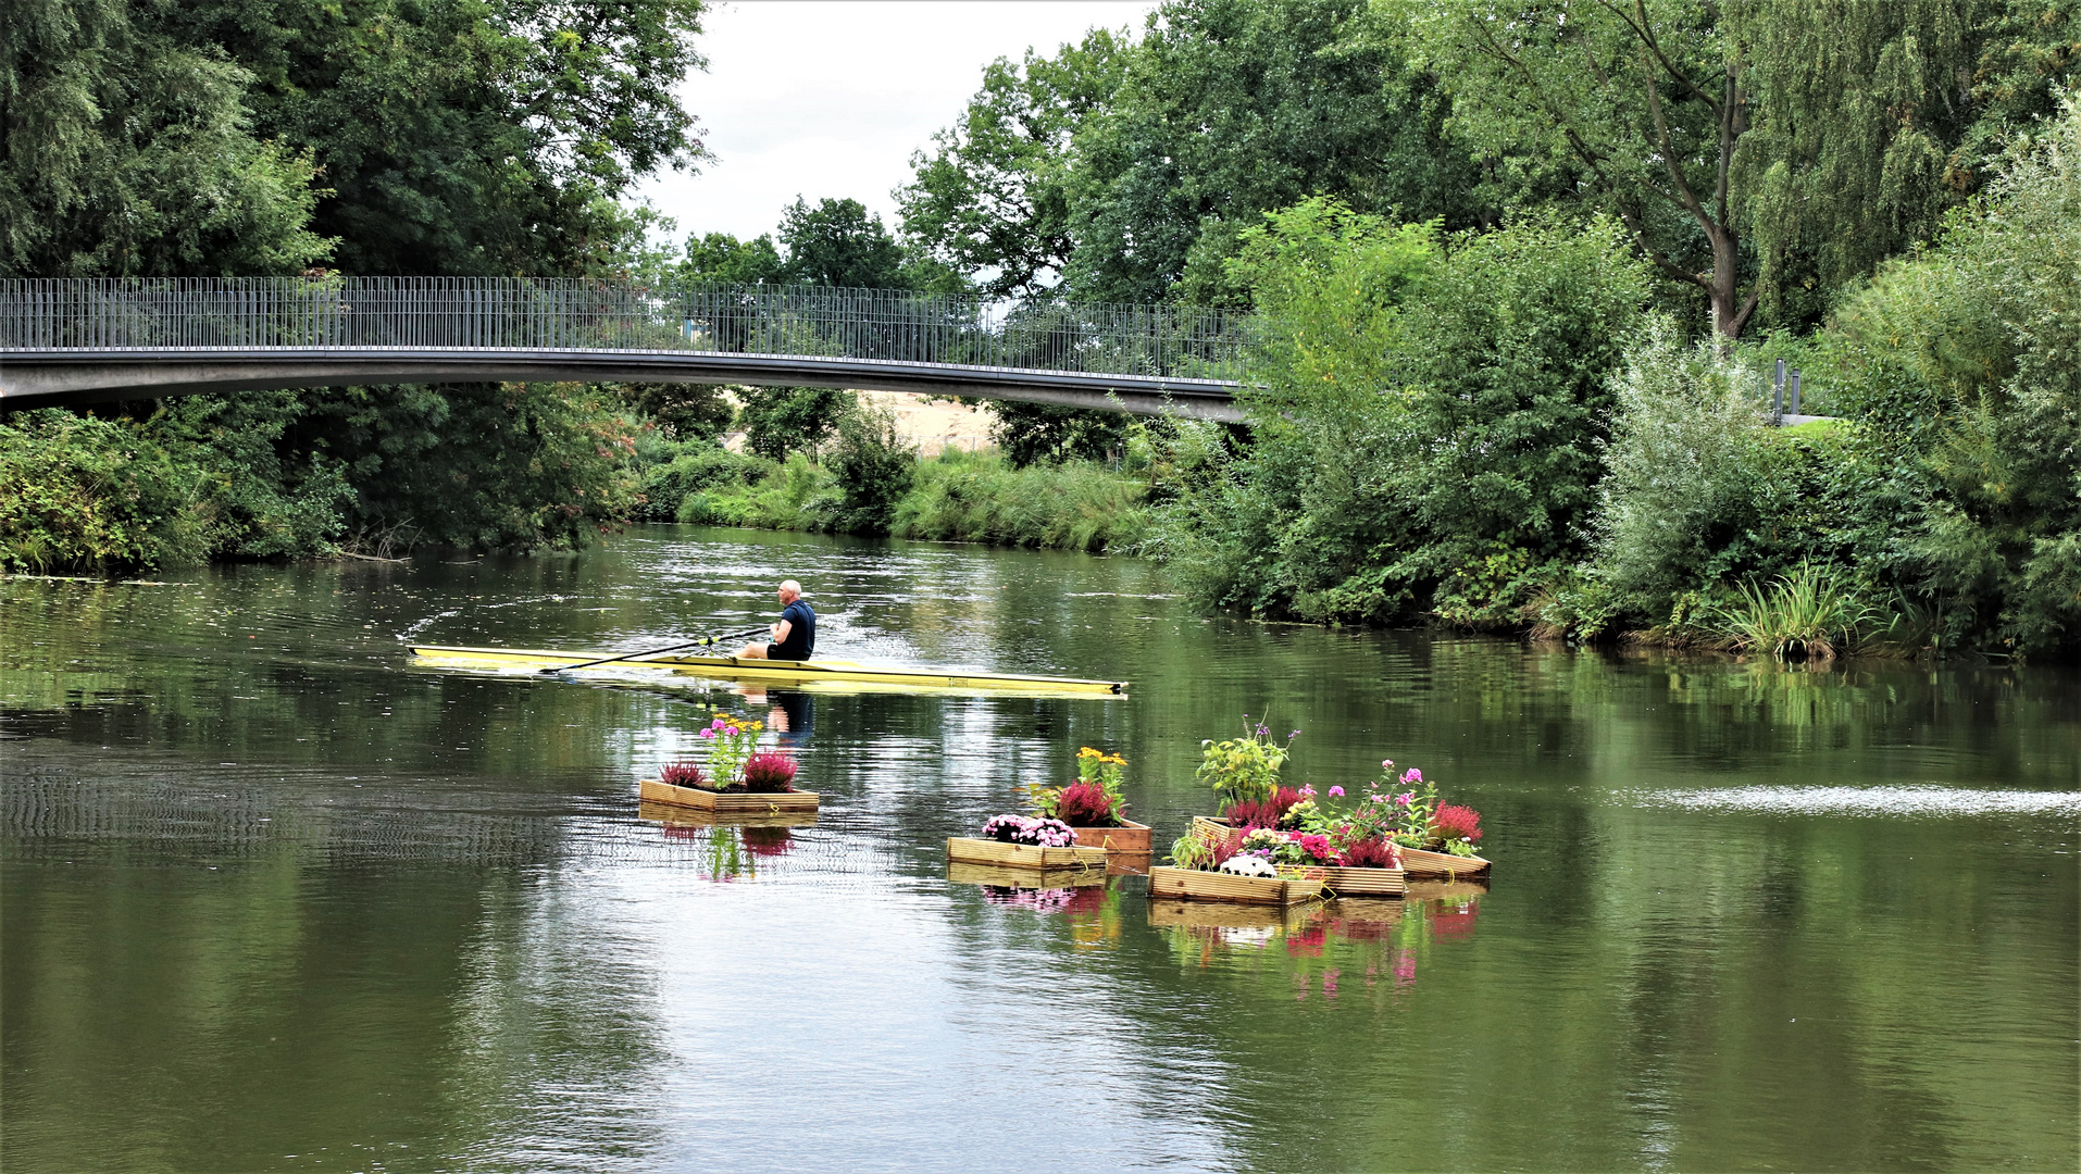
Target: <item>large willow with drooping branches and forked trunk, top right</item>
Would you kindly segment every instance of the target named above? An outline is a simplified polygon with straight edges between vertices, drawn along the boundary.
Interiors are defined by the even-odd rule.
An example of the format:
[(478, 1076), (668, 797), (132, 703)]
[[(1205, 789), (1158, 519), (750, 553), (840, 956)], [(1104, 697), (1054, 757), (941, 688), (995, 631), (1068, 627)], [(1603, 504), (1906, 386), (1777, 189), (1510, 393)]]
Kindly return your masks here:
[(1713, 329), (1933, 231), (1985, 0), (1394, 4), (1475, 150), (1575, 169)]

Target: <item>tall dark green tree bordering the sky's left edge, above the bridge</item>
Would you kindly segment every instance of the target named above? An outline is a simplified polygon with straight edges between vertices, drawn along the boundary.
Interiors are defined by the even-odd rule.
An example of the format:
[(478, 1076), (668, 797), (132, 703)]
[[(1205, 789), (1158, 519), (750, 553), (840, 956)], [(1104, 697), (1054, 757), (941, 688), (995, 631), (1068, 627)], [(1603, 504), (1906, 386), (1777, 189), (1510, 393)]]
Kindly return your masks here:
[(701, 0), (191, 0), (183, 44), (254, 75), (254, 131), (310, 152), (348, 273), (616, 273), (620, 204), (705, 150), (672, 85)]

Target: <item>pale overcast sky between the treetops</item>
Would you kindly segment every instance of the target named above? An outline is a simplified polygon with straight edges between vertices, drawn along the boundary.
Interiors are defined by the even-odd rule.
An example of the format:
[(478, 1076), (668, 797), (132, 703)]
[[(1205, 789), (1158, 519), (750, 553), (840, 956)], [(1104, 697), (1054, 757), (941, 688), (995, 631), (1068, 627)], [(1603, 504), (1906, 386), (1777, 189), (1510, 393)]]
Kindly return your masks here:
[(1149, 0), (737, 0), (703, 19), (708, 73), (680, 85), (718, 156), (641, 194), (689, 231), (755, 237), (795, 196), (851, 198), (895, 229), (889, 192), (959, 117), (982, 67), (1053, 54), (1095, 25), (1140, 29)]

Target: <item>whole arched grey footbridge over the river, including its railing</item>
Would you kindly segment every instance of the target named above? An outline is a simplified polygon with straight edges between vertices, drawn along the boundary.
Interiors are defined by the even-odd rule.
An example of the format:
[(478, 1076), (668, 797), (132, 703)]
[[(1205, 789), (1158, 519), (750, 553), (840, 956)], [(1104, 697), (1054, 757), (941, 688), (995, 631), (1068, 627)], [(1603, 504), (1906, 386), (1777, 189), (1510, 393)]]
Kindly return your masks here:
[(477, 277), (0, 281), (0, 408), (366, 383), (764, 383), (1240, 420), (1224, 310)]

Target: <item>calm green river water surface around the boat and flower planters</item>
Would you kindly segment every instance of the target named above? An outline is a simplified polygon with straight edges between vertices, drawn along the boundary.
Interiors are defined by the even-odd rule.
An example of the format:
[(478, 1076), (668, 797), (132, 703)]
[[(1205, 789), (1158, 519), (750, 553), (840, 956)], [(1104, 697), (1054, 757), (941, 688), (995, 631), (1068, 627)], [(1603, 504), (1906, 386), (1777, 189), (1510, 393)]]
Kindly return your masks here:
[[(820, 652), (1126, 699), (414, 670), (643, 647), (799, 577)], [(603, 552), (0, 581), (0, 1166), (2075, 1170), (2081, 677), (1205, 618), (1130, 560), (649, 527)], [(660, 639), (662, 637), (662, 639)], [(814, 828), (664, 826), (708, 706)], [(1421, 766), (1490, 891), (1153, 924), (947, 835), (1203, 737)]]

